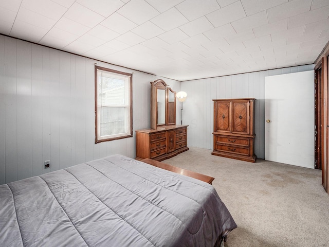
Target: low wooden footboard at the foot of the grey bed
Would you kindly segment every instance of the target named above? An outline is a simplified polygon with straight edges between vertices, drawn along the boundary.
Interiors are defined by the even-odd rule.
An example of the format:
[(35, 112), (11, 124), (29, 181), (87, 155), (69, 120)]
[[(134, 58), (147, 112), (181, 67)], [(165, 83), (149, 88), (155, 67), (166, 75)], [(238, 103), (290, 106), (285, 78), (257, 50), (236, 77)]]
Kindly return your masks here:
[(198, 180), (204, 181), (208, 184), (212, 184), (212, 181), (215, 179), (213, 177), (209, 177), (209, 176), (201, 174), (201, 173), (186, 170), (186, 169), (179, 168), (179, 167), (176, 167), (176, 166), (172, 166), (172, 165), (162, 163), (162, 162), (159, 162), (159, 161), (151, 160), (150, 158), (145, 158), (144, 160), (142, 160), (142, 162), (150, 164), (152, 166), (156, 166), (156, 167), (161, 168), (161, 169), (165, 169), (167, 171), (172, 171), (172, 172), (175, 172), (175, 173), (179, 173), (181, 175), (185, 175), (187, 177), (198, 179)]

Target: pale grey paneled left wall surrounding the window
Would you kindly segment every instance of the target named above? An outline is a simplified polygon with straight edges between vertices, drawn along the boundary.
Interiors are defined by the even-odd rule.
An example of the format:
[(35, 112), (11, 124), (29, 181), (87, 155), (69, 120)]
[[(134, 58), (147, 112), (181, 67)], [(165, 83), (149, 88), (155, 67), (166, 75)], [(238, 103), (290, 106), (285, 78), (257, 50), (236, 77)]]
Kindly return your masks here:
[[(95, 62), (133, 74), (133, 138), (95, 144)], [(0, 184), (111, 154), (134, 158), (135, 130), (150, 127), (150, 82), (160, 78), (0, 35)]]

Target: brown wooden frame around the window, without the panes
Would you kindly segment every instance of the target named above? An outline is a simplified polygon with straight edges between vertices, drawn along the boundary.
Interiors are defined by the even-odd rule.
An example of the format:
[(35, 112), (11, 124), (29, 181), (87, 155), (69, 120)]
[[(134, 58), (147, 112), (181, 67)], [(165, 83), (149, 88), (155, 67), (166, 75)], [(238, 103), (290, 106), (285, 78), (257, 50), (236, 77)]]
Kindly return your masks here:
[[(122, 136), (115, 136), (115, 137), (109, 137), (109, 138), (105, 138), (105, 139), (99, 139), (98, 136), (98, 107), (97, 107), (97, 103), (98, 103), (98, 76), (97, 76), (97, 72), (98, 70), (103, 70), (105, 72), (109, 72), (109, 73), (114, 73), (114, 74), (118, 74), (118, 75), (124, 75), (127, 77), (130, 77), (129, 80), (129, 94), (130, 94), (130, 100), (129, 100), (129, 104), (130, 104), (130, 119), (128, 121), (130, 121), (130, 131), (128, 134), (126, 135), (122, 135)], [(114, 69), (110, 69), (110, 68), (105, 68), (105, 67), (101, 67), (101, 66), (97, 66), (95, 65), (95, 144), (97, 143), (101, 143), (101, 142), (108, 142), (111, 140), (117, 140), (117, 139), (123, 139), (123, 138), (129, 138), (129, 137), (133, 137), (133, 75), (130, 73), (125, 73), (125, 72), (121, 72), (118, 70), (114, 70)]]

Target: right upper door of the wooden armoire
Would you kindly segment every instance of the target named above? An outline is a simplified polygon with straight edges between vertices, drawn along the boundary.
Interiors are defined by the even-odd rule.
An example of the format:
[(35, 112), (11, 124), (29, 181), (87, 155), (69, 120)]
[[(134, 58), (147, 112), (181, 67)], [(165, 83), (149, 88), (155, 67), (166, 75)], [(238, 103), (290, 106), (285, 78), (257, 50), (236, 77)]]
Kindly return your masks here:
[(232, 102), (232, 133), (249, 134), (249, 100)]

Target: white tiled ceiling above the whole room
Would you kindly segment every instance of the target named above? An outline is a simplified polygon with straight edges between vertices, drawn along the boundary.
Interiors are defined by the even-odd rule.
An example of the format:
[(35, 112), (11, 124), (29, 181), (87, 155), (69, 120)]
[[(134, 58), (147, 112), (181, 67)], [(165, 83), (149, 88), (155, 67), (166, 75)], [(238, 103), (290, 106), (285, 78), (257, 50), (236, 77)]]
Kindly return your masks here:
[(0, 33), (179, 81), (313, 63), (329, 0), (0, 0)]

